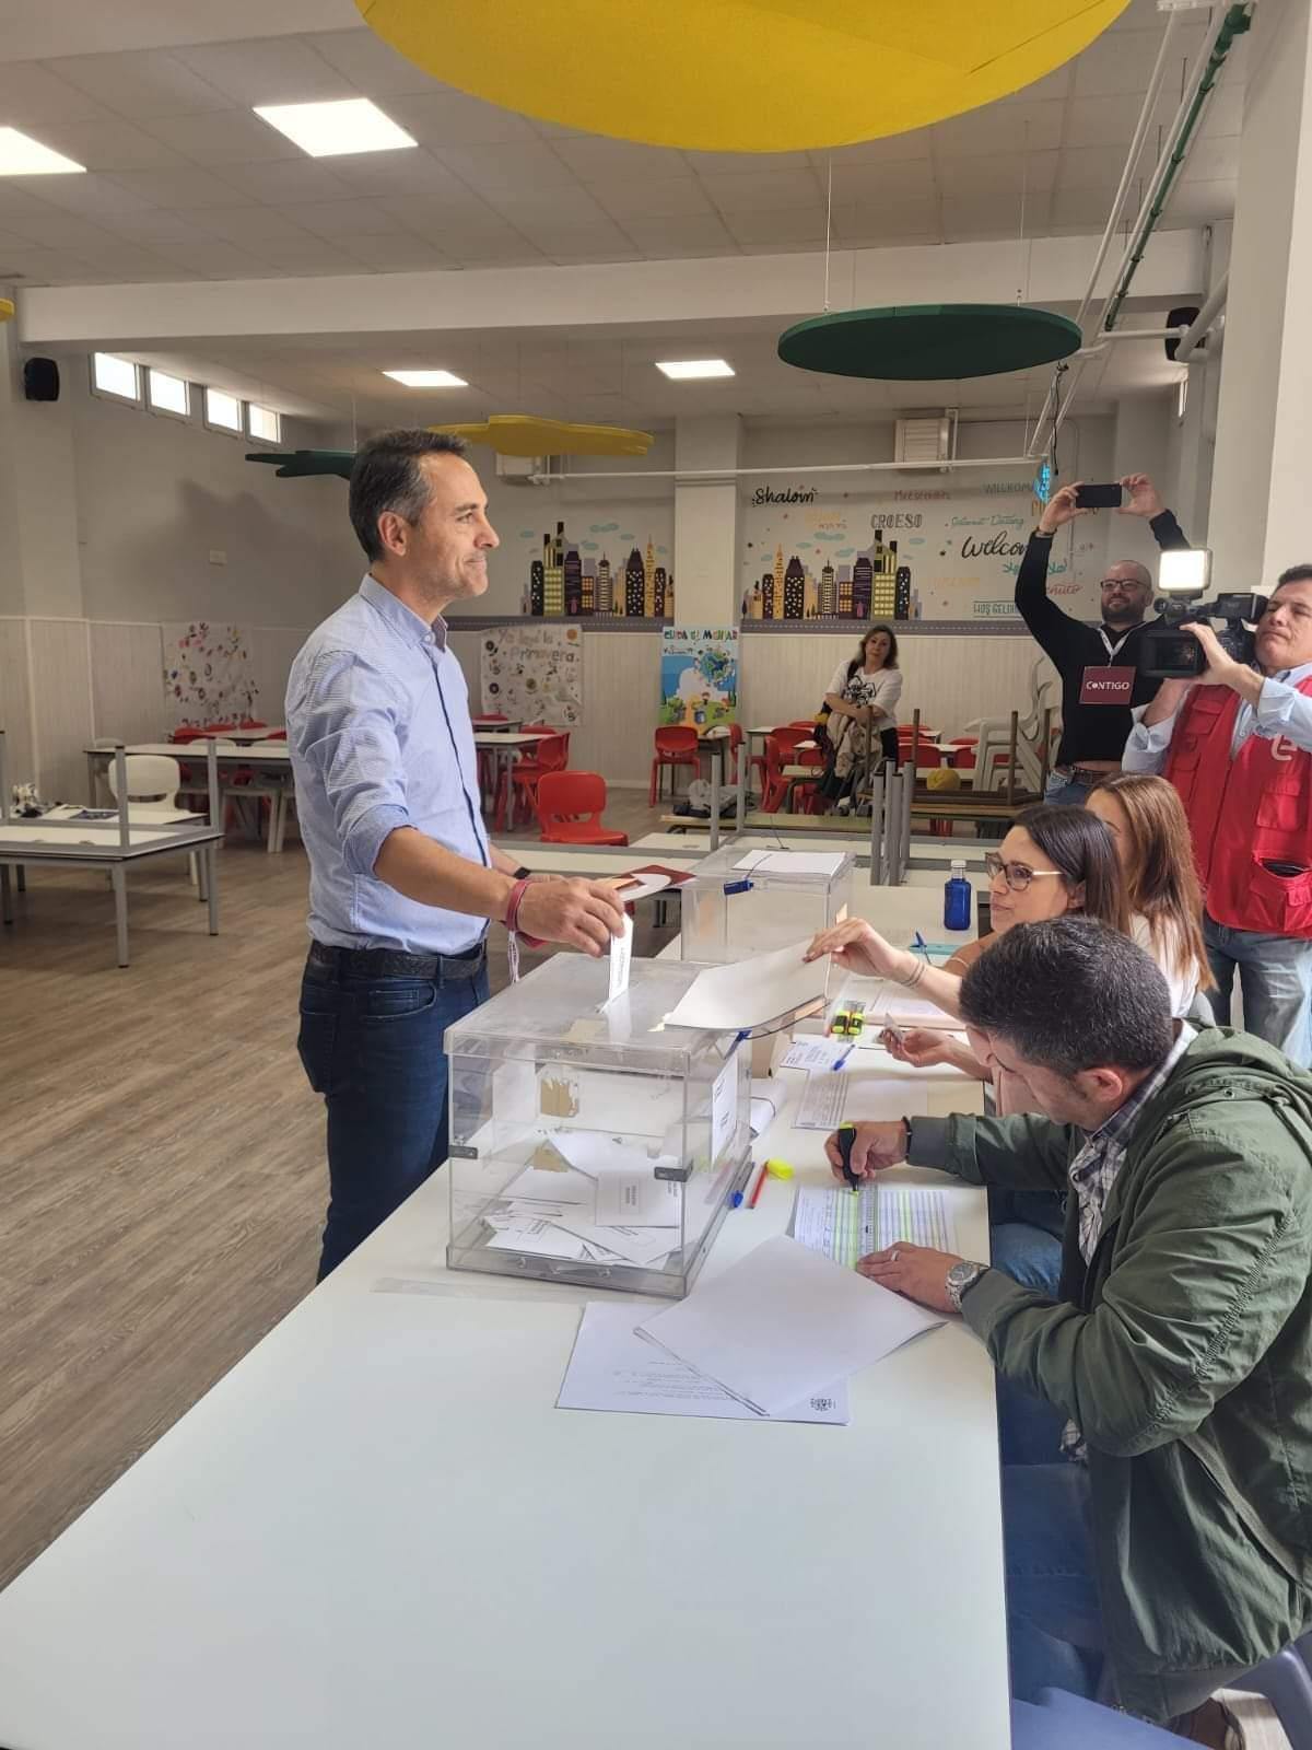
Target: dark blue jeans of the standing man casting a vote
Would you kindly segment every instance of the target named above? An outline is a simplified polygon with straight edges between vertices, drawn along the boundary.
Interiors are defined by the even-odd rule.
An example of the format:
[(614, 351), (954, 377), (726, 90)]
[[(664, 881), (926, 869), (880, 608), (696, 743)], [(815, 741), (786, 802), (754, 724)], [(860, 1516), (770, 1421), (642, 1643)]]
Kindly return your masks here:
[(486, 964), (474, 978), (306, 966), (297, 1050), (327, 1104), (320, 1283), (446, 1160), (443, 1034), (486, 999)]

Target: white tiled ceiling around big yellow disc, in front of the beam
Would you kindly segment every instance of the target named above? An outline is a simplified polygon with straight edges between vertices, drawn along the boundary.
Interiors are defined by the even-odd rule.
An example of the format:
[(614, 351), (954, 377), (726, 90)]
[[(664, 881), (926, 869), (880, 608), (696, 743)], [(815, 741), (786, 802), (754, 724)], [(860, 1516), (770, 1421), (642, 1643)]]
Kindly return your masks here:
[[(266, 14), (301, 33), (269, 33)], [(843, 248), (1016, 236), (1022, 198), (1027, 234), (1099, 229), (1163, 28), (1155, 0), (1132, 0), (1076, 61), (1002, 103), (833, 154), (736, 156), (527, 121), (429, 79), (357, 16), (350, 0), (0, 0), (0, 126), (91, 172), (0, 178), (0, 282), (815, 250), (831, 163)], [(1205, 18), (1179, 32), (1163, 126)], [(213, 40), (233, 30), (243, 35)], [(108, 40), (133, 46), (101, 52)], [(1240, 40), (1169, 226), (1233, 208), (1244, 54)], [(348, 96), (374, 98), (418, 150), (308, 159), (252, 114)]]

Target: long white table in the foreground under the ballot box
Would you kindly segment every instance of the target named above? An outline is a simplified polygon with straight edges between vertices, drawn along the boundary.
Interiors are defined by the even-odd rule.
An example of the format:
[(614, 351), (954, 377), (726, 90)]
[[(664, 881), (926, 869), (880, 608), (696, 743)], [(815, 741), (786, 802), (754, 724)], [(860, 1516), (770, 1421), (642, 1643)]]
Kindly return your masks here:
[[(789, 1111), (757, 1158), (827, 1181)], [(855, 1376), (848, 1428), (556, 1410), (588, 1290), (448, 1272), (446, 1232), (439, 1172), (0, 1594), (7, 1750), (1008, 1750), (957, 1320)]]

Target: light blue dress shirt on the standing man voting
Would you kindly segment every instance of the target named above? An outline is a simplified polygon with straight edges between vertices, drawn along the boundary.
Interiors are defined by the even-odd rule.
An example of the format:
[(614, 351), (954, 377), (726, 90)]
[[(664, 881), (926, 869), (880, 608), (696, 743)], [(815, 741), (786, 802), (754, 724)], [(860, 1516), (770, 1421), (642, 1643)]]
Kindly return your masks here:
[(490, 864), (469, 690), (446, 621), (381, 583), (310, 634), (287, 681), (287, 746), (310, 854), (310, 934), (339, 948), (462, 954), (486, 924), (406, 900), (374, 863), (397, 826)]

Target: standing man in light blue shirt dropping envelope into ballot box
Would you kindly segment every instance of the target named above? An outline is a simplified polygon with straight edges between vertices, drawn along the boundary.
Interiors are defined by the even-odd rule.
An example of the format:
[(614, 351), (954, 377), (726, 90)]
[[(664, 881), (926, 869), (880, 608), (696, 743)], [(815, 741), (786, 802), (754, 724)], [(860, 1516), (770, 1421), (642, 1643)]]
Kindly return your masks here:
[(488, 919), (600, 956), (612, 889), (534, 878), (488, 844), (444, 609), (483, 595), (497, 536), (458, 438), (383, 432), (355, 458), (359, 592), (310, 634), (287, 744), (310, 856), (299, 1052), (327, 1104), (320, 1281), (446, 1158), (446, 1027), (488, 998)]

